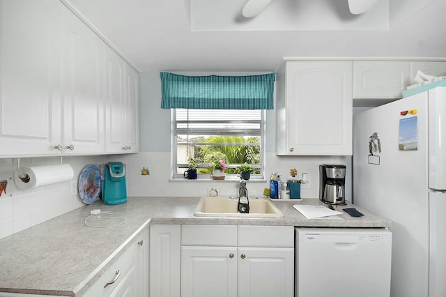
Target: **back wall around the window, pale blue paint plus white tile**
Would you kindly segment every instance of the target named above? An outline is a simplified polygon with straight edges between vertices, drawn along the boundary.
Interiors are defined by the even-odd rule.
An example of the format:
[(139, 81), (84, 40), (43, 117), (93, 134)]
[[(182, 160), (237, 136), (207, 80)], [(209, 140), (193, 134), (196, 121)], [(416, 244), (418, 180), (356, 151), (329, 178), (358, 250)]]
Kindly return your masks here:
[[(199, 73), (206, 75), (206, 73)], [(218, 73), (223, 75), (222, 73)], [(231, 196), (238, 190), (235, 181), (171, 180), (171, 137), (170, 110), (161, 109), (161, 81), (158, 71), (148, 71), (139, 75), (139, 121), (140, 153), (126, 155), (128, 163), (129, 195), (132, 196), (207, 196), (208, 186), (217, 185), (220, 195)], [(266, 178), (272, 172), (289, 176), (291, 168), (300, 173), (307, 172), (311, 188), (302, 189), (302, 197), (318, 197), (318, 165), (347, 165), (346, 197), (351, 197), (351, 156), (298, 156), (275, 155), (275, 110), (266, 112)], [(150, 176), (141, 176), (142, 167), (148, 167)], [(130, 186), (131, 185), (131, 186)], [(249, 195), (262, 196), (268, 181), (249, 181)]]

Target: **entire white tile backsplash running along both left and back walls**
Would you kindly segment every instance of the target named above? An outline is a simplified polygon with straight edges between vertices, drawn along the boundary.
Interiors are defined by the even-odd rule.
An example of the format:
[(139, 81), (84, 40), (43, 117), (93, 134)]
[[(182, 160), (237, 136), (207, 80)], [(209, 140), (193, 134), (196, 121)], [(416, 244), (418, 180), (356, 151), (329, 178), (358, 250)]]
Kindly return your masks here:
[[(220, 196), (233, 196), (238, 192), (239, 184), (236, 181), (172, 180), (170, 178), (170, 160), (170, 153), (165, 152), (63, 158), (20, 158), (22, 167), (56, 165), (61, 162), (70, 164), (75, 172), (75, 177), (73, 181), (45, 185), (31, 190), (19, 190), (12, 180), (19, 160), (17, 158), (0, 159), (0, 181), (8, 182), (6, 193), (2, 192), (0, 195), (0, 238), (84, 206), (79, 195), (71, 195), (71, 183), (77, 184), (82, 168), (88, 164), (99, 165), (109, 161), (125, 163), (129, 197), (201, 197), (208, 196), (210, 186), (217, 186)], [(275, 153), (267, 153), (266, 180), (248, 181), (249, 196), (263, 196), (263, 189), (268, 188), (268, 178), (272, 172), (279, 172), (286, 179), (289, 176), (289, 170), (297, 168), (300, 174), (306, 172), (311, 181), (311, 187), (302, 188), (302, 197), (317, 198), (318, 165), (323, 163), (350, 165), (350, 162), (350, 157), (279, 157)], [(147, 168), (150, 174), (141, 175), (143, 167)], [(346, 192), (348, 195), (348, 185)]]

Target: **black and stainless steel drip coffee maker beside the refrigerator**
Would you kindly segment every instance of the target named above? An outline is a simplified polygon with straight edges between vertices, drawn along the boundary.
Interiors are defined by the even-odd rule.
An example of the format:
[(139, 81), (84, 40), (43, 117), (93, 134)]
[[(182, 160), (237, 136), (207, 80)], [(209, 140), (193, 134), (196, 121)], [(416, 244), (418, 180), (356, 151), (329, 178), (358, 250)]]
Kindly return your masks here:
[(329, 204), (345, 204), (345, 165), (319, 165), (319, 199)]

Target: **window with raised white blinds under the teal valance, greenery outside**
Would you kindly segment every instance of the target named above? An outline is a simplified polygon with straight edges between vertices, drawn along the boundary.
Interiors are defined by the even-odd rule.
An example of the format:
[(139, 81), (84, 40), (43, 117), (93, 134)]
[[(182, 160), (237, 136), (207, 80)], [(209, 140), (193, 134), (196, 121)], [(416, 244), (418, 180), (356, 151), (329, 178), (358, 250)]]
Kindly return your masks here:
[(251, 178), (263, 178), (264, 118), (261, 109), (172, 109), (174, 178), (183, 178), (189, 156), (201, 160), (198, 178), (210, 178), (216, 158), (226, 161), (228, 179), (238, 179), (245, 162), (255, 169)]

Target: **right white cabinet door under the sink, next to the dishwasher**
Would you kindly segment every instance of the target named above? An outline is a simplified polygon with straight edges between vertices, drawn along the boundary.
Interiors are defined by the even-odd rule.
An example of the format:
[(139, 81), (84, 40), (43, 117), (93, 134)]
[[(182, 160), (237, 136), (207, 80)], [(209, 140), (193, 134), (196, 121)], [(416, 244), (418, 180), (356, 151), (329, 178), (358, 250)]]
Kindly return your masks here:
[(293, 295), (293, 248), (238, 248), (238, 296)]

